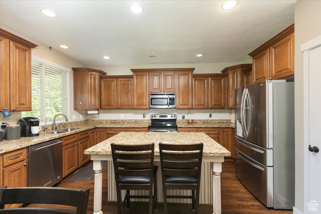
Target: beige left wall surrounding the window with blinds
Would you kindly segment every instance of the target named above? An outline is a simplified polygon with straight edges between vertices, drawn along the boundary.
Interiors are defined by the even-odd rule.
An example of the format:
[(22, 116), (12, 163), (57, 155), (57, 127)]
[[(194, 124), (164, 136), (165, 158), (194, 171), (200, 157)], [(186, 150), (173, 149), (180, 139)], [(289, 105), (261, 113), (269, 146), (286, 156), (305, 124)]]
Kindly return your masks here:
[[(33, 56), (37, 56), (39, 58), (45, 59), (47, 61), (64, 66), (69, 69), (71, 69), (72, 67), (84, 67), (85, 66), (84, 64), (74, 60), (73, 58), (56, 51), (55, 49), (59, 48), (59, 47), (53, 47), (52, 50), (49, 50), (48, 46), (46, 46), (38, 41), (35, 41), (31, 38), (28, 38), (27, 36), (17, 32), (17, 31), (14, 31), (14, 30), (12, 30), (4, 25), (1, 25), (1, 24), (0, 24), (0, 27), (4, 30), (7, 30), (7, 31), (17, 35), (17, 36), (22, 37), (23, 39), (26, 39), (30, 42), (33, 42), (33, 43), (39, 45), (39, 47), (32, 49), (31, 54)], [(66, 51), (68, 51), (68, 50), (66, 50)], [(86, 117), (86, 114), (84, 113), (84, 111), (74, 111), (73, 70), (72, 69), (70, 71), (69, 77), (70, 77), (69, 91), (70, 91), (70, 117), (71, 118), (68, 118), (68, 119), (71, 120), (72, 116), (76, 115), (76, 118), (77, 118), (76, 120), (83, 120)], [(8, 124), (16, 124), (17, 121), (21, 118), (21, 112), (11, 112), (11, 114), (12, 114), (11, 117), (5, 117), (5, 118), (2, 117), (2, 115), (1, 115), (0, 121), (6, 122)], [(82, 115), (82, 119), (80, 119), (80, 115)], [(51, 119), (53, 119), (53, 118), (51, 118)], [(71, 120), (71, 121), (76, 121), (76, 120)]]

